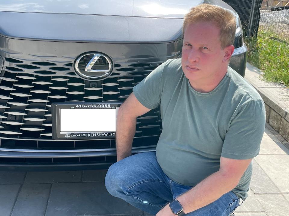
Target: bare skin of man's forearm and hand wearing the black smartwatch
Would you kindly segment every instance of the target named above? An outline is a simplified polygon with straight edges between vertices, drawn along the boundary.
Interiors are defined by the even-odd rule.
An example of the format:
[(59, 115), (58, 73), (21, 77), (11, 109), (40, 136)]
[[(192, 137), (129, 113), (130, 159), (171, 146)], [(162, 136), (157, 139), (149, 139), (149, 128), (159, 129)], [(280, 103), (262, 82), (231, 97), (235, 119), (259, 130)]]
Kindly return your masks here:
[[(236, 160), (221, 157), (220, 169), (201, 181), (191, 190), (177, 198), (187, 214), (219, 199), (223, 194), (234, 189), (240, 181), (252, 159)], [(161, 209), (156, 216), (175, 215), (169, 205)]]

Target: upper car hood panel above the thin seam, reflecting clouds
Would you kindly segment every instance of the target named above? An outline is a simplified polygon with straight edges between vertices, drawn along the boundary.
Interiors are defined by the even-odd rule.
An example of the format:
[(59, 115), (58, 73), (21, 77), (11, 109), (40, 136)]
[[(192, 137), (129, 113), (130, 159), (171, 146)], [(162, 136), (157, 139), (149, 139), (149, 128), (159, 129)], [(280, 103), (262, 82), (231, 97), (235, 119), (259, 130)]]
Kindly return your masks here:
[(0, 11), (183, 18), (191, 7), (203, 2), (204, 0), (10, 0), (0, 3)]

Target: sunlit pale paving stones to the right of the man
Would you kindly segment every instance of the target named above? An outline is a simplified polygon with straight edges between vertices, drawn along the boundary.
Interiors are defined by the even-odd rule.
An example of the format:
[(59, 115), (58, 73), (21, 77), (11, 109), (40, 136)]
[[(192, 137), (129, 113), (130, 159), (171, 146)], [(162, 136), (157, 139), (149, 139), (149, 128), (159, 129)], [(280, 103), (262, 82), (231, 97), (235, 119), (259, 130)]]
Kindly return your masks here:
[(236, 216), (289, 214), (289, 150), (281, 142), (282, 137), (266, 124), (259, 155), (253, 159), (248, 198)]

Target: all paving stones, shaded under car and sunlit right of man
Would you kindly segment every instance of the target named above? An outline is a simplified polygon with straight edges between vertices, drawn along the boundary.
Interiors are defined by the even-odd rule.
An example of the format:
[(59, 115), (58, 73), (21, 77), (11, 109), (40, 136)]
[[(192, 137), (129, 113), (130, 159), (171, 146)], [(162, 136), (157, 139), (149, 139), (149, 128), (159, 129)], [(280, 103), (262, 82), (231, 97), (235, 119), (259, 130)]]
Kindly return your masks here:
[[(253, 160), (249, 197), (236, 216), (287, 216), (289, 150), (266, 125), (259, 155)], [(110, 196), (106, 170), (71, 172), (0, 172), (0, 216), (144, 215)]]

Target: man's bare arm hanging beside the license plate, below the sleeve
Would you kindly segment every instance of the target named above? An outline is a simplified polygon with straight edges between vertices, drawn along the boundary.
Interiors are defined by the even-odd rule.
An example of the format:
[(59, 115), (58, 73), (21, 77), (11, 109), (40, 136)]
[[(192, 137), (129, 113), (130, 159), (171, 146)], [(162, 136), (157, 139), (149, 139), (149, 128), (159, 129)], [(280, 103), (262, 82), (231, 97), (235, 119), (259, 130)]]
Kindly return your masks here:
[(132, 93), (120, 106), (117, 113), (116, 147), (117, 161), (131, 155), (132, 141), (135, 135), (136, 118), (151, 109), (142, 105)]

